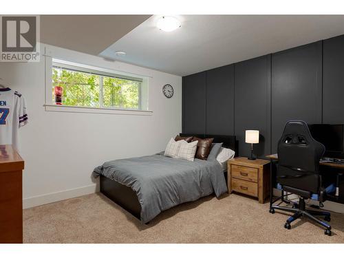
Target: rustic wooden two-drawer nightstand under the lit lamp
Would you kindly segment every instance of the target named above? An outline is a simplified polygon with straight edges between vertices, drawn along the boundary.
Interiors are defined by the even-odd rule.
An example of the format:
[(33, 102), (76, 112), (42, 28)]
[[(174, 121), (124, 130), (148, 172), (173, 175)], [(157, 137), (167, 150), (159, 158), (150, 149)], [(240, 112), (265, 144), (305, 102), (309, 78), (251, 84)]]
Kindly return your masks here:
[(263, 204), (270, 194), (269, 164), (268, 160), (248, 160), (244, 157), (228, 160), (228, 193), (257, 197)]

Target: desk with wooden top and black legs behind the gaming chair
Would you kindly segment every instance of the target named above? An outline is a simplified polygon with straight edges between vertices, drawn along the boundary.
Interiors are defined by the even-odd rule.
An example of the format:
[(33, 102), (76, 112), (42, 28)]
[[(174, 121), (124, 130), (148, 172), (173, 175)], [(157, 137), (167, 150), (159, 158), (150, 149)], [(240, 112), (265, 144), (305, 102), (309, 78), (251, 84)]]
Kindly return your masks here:
[[(277, 154), (267, 155), (266, 158), (270, 160), (270, 204), (272, 202), (272, 191), (273, 191), (273, 182), (275, 181), (274, 178), (274, 162), (278, 161)], [(335, 163), (330, 161), (323, 161), (319, 162), (320, 166), (323, 167), (321, 171), (327, 173), (327, 176), (336, 177), (336, 186), (338, 187), (338, 196), (328, 196), (327, 200), (332, 202), (338, 202), (344, 204), (344, 164), (342, 163)], [(321, 173), (324, 175), (323, 173)]]

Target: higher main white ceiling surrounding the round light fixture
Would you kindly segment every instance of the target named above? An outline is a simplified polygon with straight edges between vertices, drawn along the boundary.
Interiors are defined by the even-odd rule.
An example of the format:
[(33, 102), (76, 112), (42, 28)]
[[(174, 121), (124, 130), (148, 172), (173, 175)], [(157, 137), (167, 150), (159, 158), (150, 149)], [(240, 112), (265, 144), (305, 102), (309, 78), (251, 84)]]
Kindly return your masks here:
[[(76, 42), (73, 47), (78, 51), (89, 49), (95, 54), (103, 47), (100, 56), (184, 76), (344, 34), (343, 15), (180, 15), (175, 17), (180, 19), (182, 27), (173, 32), (156, 28), (159, 17), (155, 15), (147, 19), (147, 16), (140, 16), (135, 21), (127, 18), (130, 25), (126, 25), (123, 18), (119, 27), (127, 27), (127, 32), (132, 26), (147, 20), (127, 34), (120, 30), (122, 36), (117, 30), (118, 22), (109, 24), (111, 21), (101, 19), (107, 25), (107, 34), (116, 34), (111, 35), (112, 45), (110, 36), (107, 36), (106, 43), (99, 43), (103, 38), (98, 36), (96, 29), (101, 27), (90, 22), (94, 28), (91, 30), (92, 38), (95, 39), (80, 47), (77, 44), (86, 39), (74, 36)], [(113, 19), (116, 21), (115, 17)], [(61, 21), (58, 23), (61, 25)], [(80, 25), (72, 24), (74, 29)], [(71, 25), (64, 21), (61, 27), (69, 28)], [(83, 31), (86, 33), (86, 29), (89, 33), (89, 28)], [(57, 35), (54, 38), (63, 41)], [(54, 45), (55, 42), (51, 43)], [(116, 51), (125, 51), (127, 55), (116, 56)]]

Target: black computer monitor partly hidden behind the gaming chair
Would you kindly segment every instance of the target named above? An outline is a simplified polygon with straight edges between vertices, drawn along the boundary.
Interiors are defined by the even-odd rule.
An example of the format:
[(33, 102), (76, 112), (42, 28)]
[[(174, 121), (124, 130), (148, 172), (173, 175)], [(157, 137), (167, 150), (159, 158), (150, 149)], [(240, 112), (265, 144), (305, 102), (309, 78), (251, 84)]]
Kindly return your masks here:
[(308, 125), (314, 140), (325, 145), (324, 157), (344, 158), (344, 125)]

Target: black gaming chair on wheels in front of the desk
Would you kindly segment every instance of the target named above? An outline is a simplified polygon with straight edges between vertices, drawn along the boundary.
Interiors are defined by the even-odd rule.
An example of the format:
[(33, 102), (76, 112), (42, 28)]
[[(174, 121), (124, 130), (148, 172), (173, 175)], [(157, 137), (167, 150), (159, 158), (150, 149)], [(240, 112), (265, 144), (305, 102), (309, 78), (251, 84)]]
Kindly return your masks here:
[[(325, 235), (331, 235), (331, 226), (314, 217), (324, 216), (324, 219), (330, 222), (330, 213), (305, 208), (305, 199), (317, 200), (320, 202), (319, 206), (322, 206), (326, 193), (335, 191), (334, 184), (325, 188), (319, 173), (319, 161), (324, 152), (325, 147), (312, 138), (305, 122), (299, 120), (287, 122), (277, 149), (279, 158), (277, 188), (282, 191), (282, 201), (293, 205), (292, 207), (279, 205), (270, 207), (270, 213), (275, 213), (275, 209), (294, 213), (284, 225), (287, 229), (291, 228), (290, 223), (295, 219), (305, 216), (324, 226)], [(285, 191), (289, 195), (292, 193), (299, 195), (299, 203), (284, 201)]]

